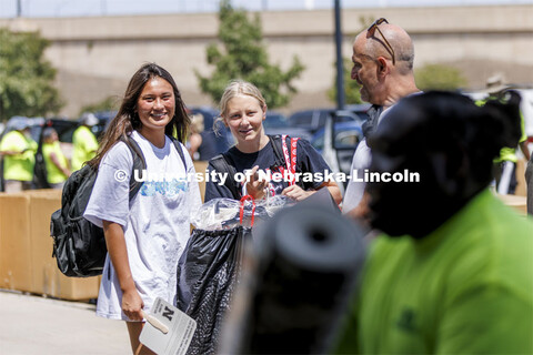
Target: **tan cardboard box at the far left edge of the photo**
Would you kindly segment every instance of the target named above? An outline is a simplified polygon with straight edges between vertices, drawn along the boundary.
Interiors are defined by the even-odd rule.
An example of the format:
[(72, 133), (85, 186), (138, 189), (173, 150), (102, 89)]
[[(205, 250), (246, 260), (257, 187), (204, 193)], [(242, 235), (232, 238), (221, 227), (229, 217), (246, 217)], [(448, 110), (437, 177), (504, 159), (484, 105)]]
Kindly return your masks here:
[(0, 193), (0, 287), (30, 291), (30, 196)]

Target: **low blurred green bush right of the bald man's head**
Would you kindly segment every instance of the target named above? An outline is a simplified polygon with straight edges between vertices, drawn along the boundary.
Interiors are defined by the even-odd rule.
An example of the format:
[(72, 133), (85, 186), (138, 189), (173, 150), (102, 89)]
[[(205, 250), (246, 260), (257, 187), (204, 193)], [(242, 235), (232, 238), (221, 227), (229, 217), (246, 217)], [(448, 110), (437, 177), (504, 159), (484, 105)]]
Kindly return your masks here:
[(425, 64), (415, 69), (414, 78), (420, 90), (456, 90), (464, 88), (467, 80), (459, 69), (444, 64)]

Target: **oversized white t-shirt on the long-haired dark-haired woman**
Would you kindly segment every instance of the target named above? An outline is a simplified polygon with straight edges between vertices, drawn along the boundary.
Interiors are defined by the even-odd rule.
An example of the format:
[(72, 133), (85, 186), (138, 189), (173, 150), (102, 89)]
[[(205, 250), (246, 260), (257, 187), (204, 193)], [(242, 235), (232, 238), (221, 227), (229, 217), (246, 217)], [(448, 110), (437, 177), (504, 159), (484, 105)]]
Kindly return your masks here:
[[(149, 180), (130, 202), (133, 156), (125, 143), (117, 143), (100, 163), (83, 216), (99, 226), (102, 220), (122, 225), (131, 273), (144, 310), (150, 311), (158, 296), (174, 302), (178, 261), (190, 237), (190, 214), (200, 207), (201, 197), (198, 182), (187, 179), (188, 174), (194, 176), (194, 166), (183, 145), (188, 174), (169, 138), (159, 149), (137, 131), (131, 136), (144, 154)], [(97, 315), (128, 320), (121, 302), (119, 280), (108, 255)]]

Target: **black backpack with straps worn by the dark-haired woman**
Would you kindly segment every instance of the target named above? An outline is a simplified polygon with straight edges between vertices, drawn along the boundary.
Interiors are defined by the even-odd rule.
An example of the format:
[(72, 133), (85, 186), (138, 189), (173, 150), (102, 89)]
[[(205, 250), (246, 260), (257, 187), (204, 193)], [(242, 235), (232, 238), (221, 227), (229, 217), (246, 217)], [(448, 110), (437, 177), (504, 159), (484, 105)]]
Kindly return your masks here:
[[(172, 139), (183, 165), (187, 164), (178, 140)], [(133, 170), (130, 178), (130, 201), (137, 195), (142, 183), (135, 181), (134, 172), (145, 169), (147, 162), (139, 144), (124, 141), (133, 156)], [(103, 230), (83, 217), (91, 197), (98, 170), (90, 165), (72, 173), (63, 186), (61, 209), (51, 216), (50, 235), (53, 239), (53, 253), (59, 270), (67, 276), (89, 277), (101, 275), (108, 248)]]

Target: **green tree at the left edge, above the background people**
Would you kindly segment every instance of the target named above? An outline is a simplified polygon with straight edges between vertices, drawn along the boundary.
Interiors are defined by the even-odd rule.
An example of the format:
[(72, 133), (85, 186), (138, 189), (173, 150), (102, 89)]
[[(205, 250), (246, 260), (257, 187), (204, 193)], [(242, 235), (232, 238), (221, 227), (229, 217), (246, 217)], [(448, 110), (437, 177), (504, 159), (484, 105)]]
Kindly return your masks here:
[(44, 59), (49, 41), (38, 32), (0, 29), (0, 120), (57, 113), (63, 105), (53, 87), (56, 69)]

